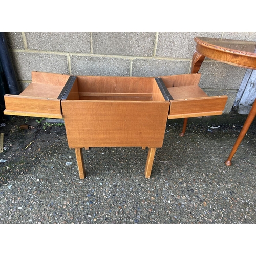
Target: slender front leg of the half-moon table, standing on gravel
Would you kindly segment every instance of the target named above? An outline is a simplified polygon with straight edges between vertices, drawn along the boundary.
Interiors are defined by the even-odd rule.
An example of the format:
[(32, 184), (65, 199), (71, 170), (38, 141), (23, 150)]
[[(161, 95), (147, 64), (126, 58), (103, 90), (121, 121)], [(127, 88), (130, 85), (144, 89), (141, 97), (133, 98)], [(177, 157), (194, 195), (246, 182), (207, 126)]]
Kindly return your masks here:
[(256, 116), (256, 100), (254, 101), (254, 103), (252, 105), (252, 108), (250, 110), (250, 113), (248, 114), (248, 116), (247, 116), (247, 118), (245, 120), (243, 128), (242, 128), (240, 134), (238, 135), (238, 138), (237, 138), (236, 142), (233, 145), (233, 148), (231, 150), (231, 153), (230, 153), (227, 161), (225, 162), (225, 164), (227, 166), (231, 166), (232, 165), (231, 160), (232, 160), (232, 158), (234, 156), (234, 153), (236, 153), (236, 151), (237, 151), (241, 141), (243, 140), (243, 138), (244, 138), (246, 132), (248, 131), (248, 129), (249, 129), (252, 121), (254, 120), (255, 116)]

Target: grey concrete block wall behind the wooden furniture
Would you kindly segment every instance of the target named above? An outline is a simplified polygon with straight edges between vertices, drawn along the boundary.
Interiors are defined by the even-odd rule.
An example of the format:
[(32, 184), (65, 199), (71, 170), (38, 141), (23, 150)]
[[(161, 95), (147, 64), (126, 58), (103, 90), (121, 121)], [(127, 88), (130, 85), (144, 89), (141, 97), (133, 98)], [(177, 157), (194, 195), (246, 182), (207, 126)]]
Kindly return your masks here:
[[(194, 37), (256, 41), (256, 32), (6, 32), (22, 90), (31, 71), (72, 75), (164, 76), (187, 74)], [(245, 68), (205, 59), (200, 87), (209, 95), (228, 95), (231, 111)]]

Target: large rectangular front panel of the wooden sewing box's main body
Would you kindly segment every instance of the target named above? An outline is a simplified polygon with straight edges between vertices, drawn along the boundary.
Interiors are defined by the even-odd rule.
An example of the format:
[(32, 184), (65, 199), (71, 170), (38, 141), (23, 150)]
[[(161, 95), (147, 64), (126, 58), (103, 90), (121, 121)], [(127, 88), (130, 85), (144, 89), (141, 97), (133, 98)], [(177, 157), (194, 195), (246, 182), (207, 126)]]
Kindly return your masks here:
[(169, 102), (62, 100), (68, 144), (162, 147)]

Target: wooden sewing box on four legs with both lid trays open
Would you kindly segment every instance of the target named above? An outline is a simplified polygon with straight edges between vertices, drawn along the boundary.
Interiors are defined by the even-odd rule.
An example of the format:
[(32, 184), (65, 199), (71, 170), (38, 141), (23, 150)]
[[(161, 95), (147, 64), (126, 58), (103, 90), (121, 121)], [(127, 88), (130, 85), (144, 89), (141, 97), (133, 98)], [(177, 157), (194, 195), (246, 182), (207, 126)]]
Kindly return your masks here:
[(63, 118), (80, 179), (86, 174), (82, 148), (90, 147), (148, 147), (145, 177), (149, 178), (156, 148), (163, 145), (167, 118), (223, 112), (227, 96), (208, 97), (198, 85), (200, 76), (73, 76), (32, 71), (32, 82), (22, 93), (4, 96), (4, 114)]

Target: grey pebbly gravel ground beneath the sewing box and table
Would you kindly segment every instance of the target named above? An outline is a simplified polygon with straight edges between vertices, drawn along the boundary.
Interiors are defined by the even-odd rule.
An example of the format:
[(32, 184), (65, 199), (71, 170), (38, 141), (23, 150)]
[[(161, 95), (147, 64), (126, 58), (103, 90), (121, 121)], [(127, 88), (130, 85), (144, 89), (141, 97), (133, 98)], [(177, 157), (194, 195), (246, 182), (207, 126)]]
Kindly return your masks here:
[(2, 224), (256, 223), (255, 121), (230, 167), (224, 161), (244, 116), (190, 118), (182, 138), (182, 120), (168, 120), (149, 179), (147, 149), (83, 150), (87, 174), (80, 180), (65, 126), (35, 120), (0, 121)]

